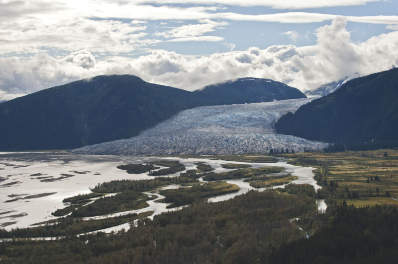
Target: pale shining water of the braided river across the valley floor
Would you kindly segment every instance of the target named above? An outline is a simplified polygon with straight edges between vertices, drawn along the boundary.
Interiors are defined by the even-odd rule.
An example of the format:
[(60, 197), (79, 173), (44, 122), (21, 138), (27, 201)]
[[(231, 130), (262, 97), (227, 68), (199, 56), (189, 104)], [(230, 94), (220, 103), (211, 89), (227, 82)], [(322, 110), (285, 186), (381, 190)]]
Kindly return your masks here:
[[(247, 155), (250, 158), (250, 155)], [(231, 159), (231, 156), (226, 156)], [(236, 159), (244, 159), (245, 156), (235, 156)], [(259, 156), (261, 158), (261, 156)], [(74, 197), (82, 194), (93, 194), (96, 190), (96, 183), (103, 183), (109, 181), (118, 180), (153, 180), (161, 179), (154, 176), (149, 176), (147, 173), (139, 174), (128, 174), (125, 170), (118, 169), (117, 166), (120, 164), (142, 164), (148, 162), (154, 162), (155, 164), (162, 164), (169, 160), (178, 160), (186, 167), (185, 170), (196, 170), (197, 164), (206, 164), (211, 166), (214, 170), (209, 172), (211, 174), (229, 172), (234, 169), (223, 168), (225, 163), (229, 164), (243, 164), (251, 166), (246, 170), (252, 170), (260, 167), (270, 168), (281, 168), (283, 174), (290, 173), (298, 177), (295, 183), (298, 184), (310, 184), (318, 189), (313, 179), (314, 174), (312, 173), (311, 167), (300, 167), (287, 163), (287, 160), (279, 160), (278, 162), (272, 163), (256, 163), (256, 162), (226, 162), (221, 157), (216, 159), (211, 156), (197, 156), (192, 157), (144, 157), (144, 156), (105, 156), (105, 155), (76, 155), (66, 153), (8, 153), (0, 154), (0, 177), (3, 179), (1, 182), (1, 195), (0, 202), (1, 206), (1, 218), (0, 224), (6, 230), (10, 230), (15, 227), (24, 228), (30, 227), (32, 224), (40, 223), (44, 221), (55, 220), (58, 217), (51, 215), (52, 212), (64, 208), (66, 204), (70, 204), (73, 199), (67, 199), (64, 203), (65, 198)], [(170, 162), (169, 162), (170, 163)], [(158, 169), (159, 170), (159, 169)], [(245, 169), (243, 169), (245, 170)], [(76, 173), (79, 172), (79, 173)], [(184, 171), (183, 171), (184, 172)], [(73, 177), (67, 177), (58, 179), (58, 175), (70, 173)], [(182, 172), (176, 172), (167, 175), (168, 177), (177, 177)], [(263, 173), (264, 174), (264, 173)], [(274, 171), (269, 171), (265, 174), (274, 175)], [(40, 181), (40, 177), (46, 175), (47, 177), (53, 177), (54, 181)], [(199, 182), (202, 182), (202, 176), (198, 176)], [(15, 185), (6, 185), (9, 182), (17, 182)], [(194, 181), (195, 182), (195, 181)], [(250, 190), (265, 190), (264, 188), (253, 188), (249, 183), (244, 182), (244, 179), (232, 179), (226, 180), (227, 184), (232, 184), (237, 187), (232, 194), (220, 194), (216, 197), (210, 198), (209, 201), (221, 201), (230, 199), (235, 196), (244, 194)], [(280, 184), (276, 187), (283, 187), (284, 184)], [(126, 211), (107, 213), (105, 215), (86, 217), (85, 219), (103, 219), (108, 217), (116, 217), (125, 215), (128, 213), (144, 213), (153, 211), (153, 216), (166, 212), (169, 210), (181, 209), (181, 206), (174, 208), (167, 208), (170, 203), (157, 202), (158, 200), (165, 198), (162, 190), (177, 189), (179, 185), (175, 184), (162, 184), (160, 188), (153, 189), (137, 189), (144, 190), (143, 194), (146, 196), (153, 196), (146, 202), (141, 209), (128, 209)], [(189, 188), (189, 187), (188, 187)], [(100, 189), (99, 189), (100, 190)], [(33, 191), (33, 192), (32, 192)], [(153, 191), (153, 192), (151, 192)], [(51, 192), (51, 193), (50, 193)], [(95, 191), (96, 192), (96, 191)], [(48, 193), (48, 194), (47, 194)], [(100, 193), (109, 193), (108, 190), (104, 189)], [(120, 190), (116, 191), (120, 193)], [(46, 194), (46, 195), (44, 195)], [(92, 195), (87, 198), (80, 198), (81, 200), (87, 199), (99, 199), (98, 196)], [(85, 208), (87, 205), (82, 205)], [(83, 215), (83, 214), (82, 214)], [(118, 228), (111, 230), (119, 230), (126, 228), (128, 225), (121, 225)]]

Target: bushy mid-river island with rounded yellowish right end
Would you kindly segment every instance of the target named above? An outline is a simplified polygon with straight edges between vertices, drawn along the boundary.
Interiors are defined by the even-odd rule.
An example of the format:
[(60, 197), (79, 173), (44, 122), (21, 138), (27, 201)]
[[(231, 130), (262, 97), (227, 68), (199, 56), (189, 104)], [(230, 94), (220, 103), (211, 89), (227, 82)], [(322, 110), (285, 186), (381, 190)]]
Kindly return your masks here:
[(235, 184), (228, 184), (226, 182), (211, 182), (202, 185), (196, 185), (191, 188), (179, 188), (162, 190), (160, 195), (165, 196), (164, 202), (173, 202), (168, 205), (168, 208), (191, 204), (203, 198), (235, 193), (240, 189)]

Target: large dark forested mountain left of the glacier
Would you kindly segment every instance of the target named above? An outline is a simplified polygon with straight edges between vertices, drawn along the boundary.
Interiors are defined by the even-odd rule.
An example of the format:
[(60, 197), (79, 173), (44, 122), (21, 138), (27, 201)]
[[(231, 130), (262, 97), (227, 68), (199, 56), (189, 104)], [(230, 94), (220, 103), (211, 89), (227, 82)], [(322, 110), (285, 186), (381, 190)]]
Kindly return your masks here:
[[(295, 90), (283, 85), (279, 84), (282, 94)], [(71, 149), (129, 138), (181, 110), (224, 104), (222, 93), (210, 95), (206, 89), (190, 92), (133, 75), (101, 75), (71, 82), (1, 103), (0, 150)], [(226, 97), (241, 100), (235, 100), (241, 94), (234, 93), (231, 90)], [(300, 95), (298, 90), (296, 93)], [(261, 100), (279, 100), (281, 96), (275, 94), (275, 98)], [(244, 103), (253, 100), (260, 99), (253, 94)]]

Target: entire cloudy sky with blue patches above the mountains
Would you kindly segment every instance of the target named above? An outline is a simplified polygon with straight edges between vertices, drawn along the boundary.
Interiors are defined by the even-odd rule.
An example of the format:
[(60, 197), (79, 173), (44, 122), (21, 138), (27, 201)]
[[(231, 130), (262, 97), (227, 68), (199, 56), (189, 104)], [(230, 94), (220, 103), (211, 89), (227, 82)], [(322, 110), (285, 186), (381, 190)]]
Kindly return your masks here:
[(0, 0), (0, 101), (101, 74), (301, 91), (398, 66), (398, 0)]

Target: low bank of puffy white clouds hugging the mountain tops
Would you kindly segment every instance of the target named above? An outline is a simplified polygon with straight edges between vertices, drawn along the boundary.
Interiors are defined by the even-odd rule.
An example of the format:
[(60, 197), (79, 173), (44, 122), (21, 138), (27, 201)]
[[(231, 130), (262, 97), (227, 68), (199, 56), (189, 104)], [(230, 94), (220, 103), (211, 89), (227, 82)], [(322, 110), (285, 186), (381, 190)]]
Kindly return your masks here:
[(185, 56), (158, 50), (136, 59), (96, 59), (90, 50), (64, 58), (41, 53), (21, 60), (0, 59), (0, 100), (100, 74), (134, 74), (146, 81), (187, 90), (239, 77), (264, 77), (302, 91), (358, 72), (366, 75), (398, 66), (398, 31), (350, 42), (347, 18), (337, 17), (316, 30), (317, 44), (271, 46), (261, 50)]

